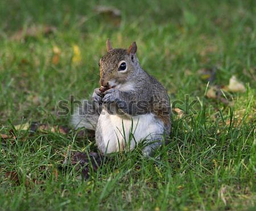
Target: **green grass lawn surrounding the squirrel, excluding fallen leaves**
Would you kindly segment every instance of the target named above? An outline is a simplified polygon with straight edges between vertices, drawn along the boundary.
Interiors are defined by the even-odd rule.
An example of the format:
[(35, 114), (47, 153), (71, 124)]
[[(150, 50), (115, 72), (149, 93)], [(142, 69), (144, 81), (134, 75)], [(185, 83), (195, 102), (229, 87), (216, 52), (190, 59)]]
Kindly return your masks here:
[[(97, 5), (121, 10), (120, 25), (96, 14)], [(68, 125), (68, 115), (56, 115), (57, 102), (87, 98), (98, 86), (107, 38), (123, 48), (135, 40), (142, 67), (171, 102), (188, 94), (197, 103), (196, 114), (173, 115), (160, 160), (139, 149), (114, 154), (86, 181), (63, 160), (70, 151), (95, 150), (94, 139), (14, 131), (16, 139), (0, 140), (0, 210), (255, 209), (255, 14), (254, 1), (1, 1), (1, 134), (27, 122)], [(44, 25), (57, 30), (13, 39), (22, 27)], [(61, 51), (56, 65), (54, 46)], [(228, 85), (234, 75), (246, 92), (224, 92), (229, 105), (208, 99), (204, 68), (216, 68), (213, 85)], [(10, 171), (19, 184), (6, 178)]]

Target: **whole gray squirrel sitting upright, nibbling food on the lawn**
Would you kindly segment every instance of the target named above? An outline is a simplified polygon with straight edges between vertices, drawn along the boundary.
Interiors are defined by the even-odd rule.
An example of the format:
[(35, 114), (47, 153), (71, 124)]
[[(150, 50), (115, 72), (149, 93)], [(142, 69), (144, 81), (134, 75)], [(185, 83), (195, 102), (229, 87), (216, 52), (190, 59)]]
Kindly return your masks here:
[(94, 89), (93, 101), (83, 101), (71, 123), (95, 130), (102, 154), (133, 150), (143, 141), (143, 154), (150, 156), (170, 134), (168, 94), (139, 65), (135, 42), (121, 49), (112, 48), (108, 39), (106, 48), (99, 62), (101, 88)]

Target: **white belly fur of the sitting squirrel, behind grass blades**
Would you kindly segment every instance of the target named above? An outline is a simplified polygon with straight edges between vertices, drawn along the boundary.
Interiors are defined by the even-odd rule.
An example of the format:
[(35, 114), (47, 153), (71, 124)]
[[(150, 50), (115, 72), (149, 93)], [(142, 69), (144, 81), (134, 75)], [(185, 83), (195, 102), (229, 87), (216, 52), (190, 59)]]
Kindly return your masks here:
[[(159, 140), (162, 138), (163, 123), (158, 121), (154, 114), (138, 115), (132, 119), (111, 115), (102, 110), (98, 119), (98, 125), (101, 127), (101, 138), (103, 139), (100, 141), (104, 142), (104, 144), (100, 144), (104, 146), (104, 149), (100, 149), (102, 152), (122, 151), (124, 148), (133, 150), (136, 143), (138, 144), (142, 140)], [(130, 133), (131, 131), (132, 133)]]

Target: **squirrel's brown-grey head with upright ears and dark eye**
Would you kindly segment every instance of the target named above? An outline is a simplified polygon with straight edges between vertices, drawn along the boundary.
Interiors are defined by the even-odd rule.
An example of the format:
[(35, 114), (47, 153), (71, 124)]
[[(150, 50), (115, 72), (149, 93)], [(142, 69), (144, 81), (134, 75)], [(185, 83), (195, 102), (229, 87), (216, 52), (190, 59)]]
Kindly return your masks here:
[(124, 84), (138, 67), (137, 45), (133, 42), (128, 49), (112, 48), (106, 41), (107, 53), (99, 62), (100, 85), (117, 86)]

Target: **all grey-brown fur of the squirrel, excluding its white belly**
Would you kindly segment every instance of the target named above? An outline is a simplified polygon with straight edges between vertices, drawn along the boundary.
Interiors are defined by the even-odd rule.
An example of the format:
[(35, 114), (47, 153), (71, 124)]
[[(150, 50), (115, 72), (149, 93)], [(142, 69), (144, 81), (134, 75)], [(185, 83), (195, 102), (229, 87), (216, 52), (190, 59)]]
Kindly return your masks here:
[[(170, 100), (163, 86), (141, 68), (135, 53), (136, 49), (137, 45), (135, 43), (133, 43), (133, 50), (129, 51), (131, 53), (128, 53), (126, 49), (109, 49), (108, 53), (106, 53), (100, 60), (101, 85), (106, 86), (109, 81), (114, 81), (115, 84), (122, 87), (122, 85), (129, 82), (130, 84), (133, 84), (134, 89), (122, 91), (111, 88), (104, 93), (103, 98), (100, 96), (99, 89), (95, 89), (93, 100), (98, 102), (96, 107), (100, 107), (100, 104), (103, 102), (104, 107), (108, 110), (109, 114), (112, 111), (111, 109), (108, 109), (108, 104), (114, 101), (115, 106), (128, 116), (154, 113), (156, 122), (162, 121), (164, 123), (164, 134), (151, 137), (151, 140), (155, 140), (156, 142), (151, 143), (143, 149), (143, 154), (148, 156), (162, 144), (163, 135), (168, 136), (170, 134)], [(125, 73), (118, 72), (118, 64), (122, 60), (125, 60), (127, 63), (127, 71)], [(140, 101), (148, 102), (143, 109), (138, 106), (138, 102)], [(133, 106), (123, 107), (124, 102), (126, 105), (130, 105), (130, 103), (133, 102)], [(156, 107), (160, 107), (160, 109), (156, 111), (153, 110), (154, 103), (157, 105)], [(77, 110), (76, 115), (72, 117), (72, 125), (76, 128), (86, 127), (88, 129), (96, 130), (96, 143), (98, 148), (102, 150), (102, 148), (104, 148), (102, 143), (102, 136), (104, 136), (104, 134), (102, 134), (101, 123), (98, 122), (102, 107), (98, 109), (98, 113), (95, 113), (96, 107), (93, 107), (89, 103), (86, 104), (87, 105), (82, 105), (82, 107)], [(162, 113), (160, 113), (160, 111), (162, 111), (161, 109), (168, 111), (168, 113), (162, 115)], [(93, 112), (89, 114), (88, 110)], [(79, 111), (82, 115), (78, 115)]]

